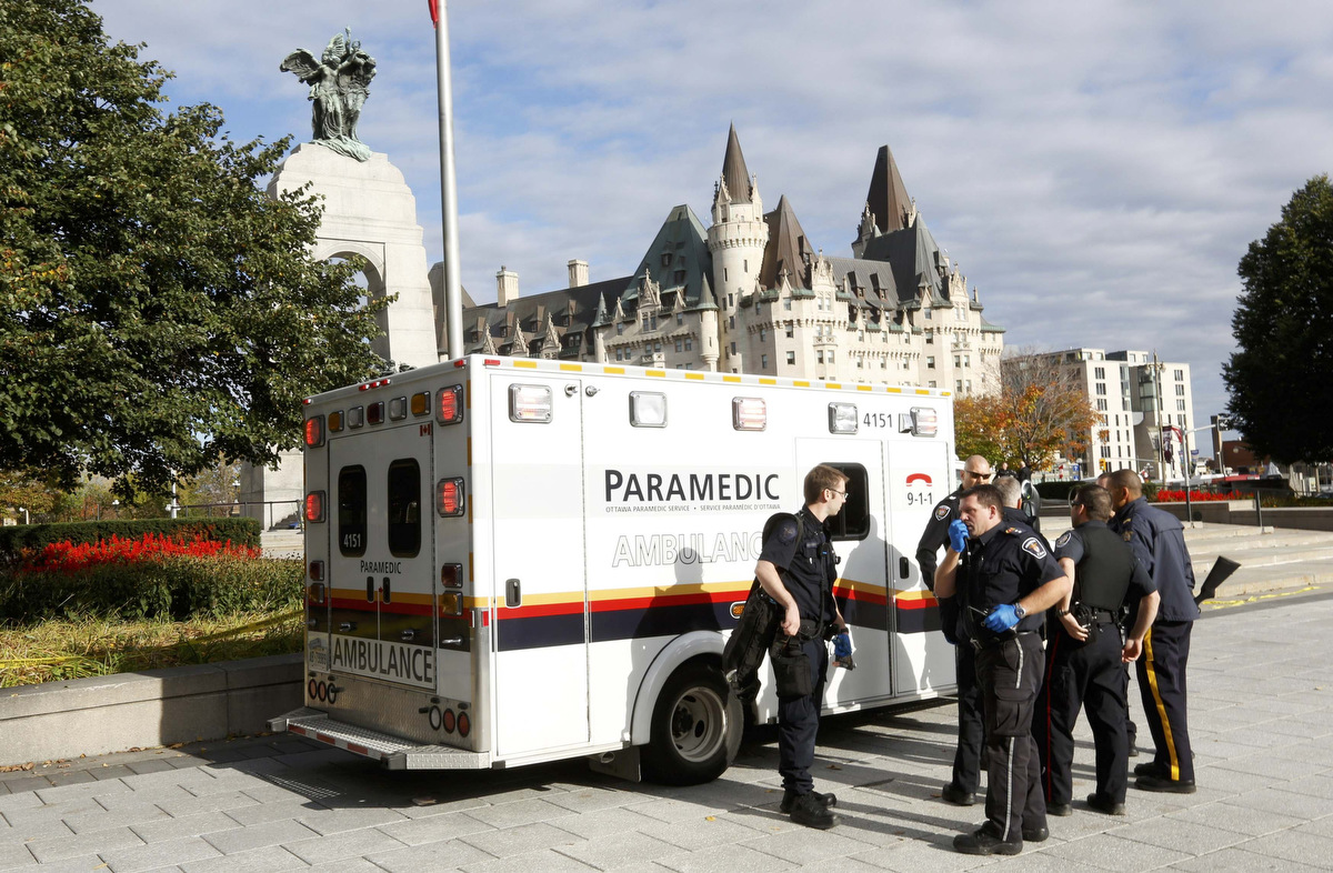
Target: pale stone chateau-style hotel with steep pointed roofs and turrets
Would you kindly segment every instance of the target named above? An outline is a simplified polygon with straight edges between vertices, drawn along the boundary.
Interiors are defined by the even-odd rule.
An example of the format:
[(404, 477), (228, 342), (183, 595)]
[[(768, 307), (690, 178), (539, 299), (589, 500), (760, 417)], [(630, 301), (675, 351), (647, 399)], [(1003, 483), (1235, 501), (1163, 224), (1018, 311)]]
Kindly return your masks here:
[[(519, 295), (497, 273), (497, 301), (464, 301), (469, 353), (706, 369), (844, 383), (996, 388), (1004, 329), (949, 261), (908, 197), (885, 145), (876, 157), (852, 257), (816, 248), (786, 197), (764, 212), (730, 129), (712, 224), (672, 208), (629, 276)], [(431, 272), (436, 300), (441, 268)], [(439, 324), (439, 323), (437, 323)], [(441, 341), (443, 345), (443, 341)]]

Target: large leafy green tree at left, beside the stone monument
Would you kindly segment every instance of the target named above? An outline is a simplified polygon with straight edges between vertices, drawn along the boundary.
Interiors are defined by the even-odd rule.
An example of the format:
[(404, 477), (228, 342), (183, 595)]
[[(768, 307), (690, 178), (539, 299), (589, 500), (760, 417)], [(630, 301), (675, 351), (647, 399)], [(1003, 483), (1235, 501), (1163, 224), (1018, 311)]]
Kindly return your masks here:
[(0, 468), (128, 498), (297, 444), (303, 396), (379, 372), (359, 264), (311, 260), (320, 208), (257, 183), (211, 105), (109, 45), (80, 0), (0, 4)]

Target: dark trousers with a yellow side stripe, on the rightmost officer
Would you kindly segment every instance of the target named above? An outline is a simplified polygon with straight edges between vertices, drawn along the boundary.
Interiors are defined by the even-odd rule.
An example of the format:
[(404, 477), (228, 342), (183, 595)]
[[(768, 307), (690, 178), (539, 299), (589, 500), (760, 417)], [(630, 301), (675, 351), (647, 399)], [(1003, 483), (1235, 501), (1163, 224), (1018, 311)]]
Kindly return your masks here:
[(1154, 621), (1144, 637), (1144, 654), (1137, 664), (1144, 721), (1157, 746), (1153, 762), (1164, 777), (1177, 781), (1194, 780), (1185, 717), (1185, 668), (1193, 626), (1193, 621)]

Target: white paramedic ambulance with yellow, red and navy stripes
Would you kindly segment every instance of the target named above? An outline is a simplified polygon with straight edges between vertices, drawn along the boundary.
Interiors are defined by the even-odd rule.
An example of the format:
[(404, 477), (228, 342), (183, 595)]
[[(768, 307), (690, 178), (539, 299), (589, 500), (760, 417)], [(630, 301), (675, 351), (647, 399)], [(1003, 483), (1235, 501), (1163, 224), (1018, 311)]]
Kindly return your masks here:
[[(471, 356), (307, 404), (305, 708), (271, 724), (392, 769), (588, 756), (716, 777), (720, 662), (760, 530), (849, 476), (824, 712), (954, 685), (914, 550), (953, 488), (948, 392)], [(772, 673), (750, 713), (776, 720)]]

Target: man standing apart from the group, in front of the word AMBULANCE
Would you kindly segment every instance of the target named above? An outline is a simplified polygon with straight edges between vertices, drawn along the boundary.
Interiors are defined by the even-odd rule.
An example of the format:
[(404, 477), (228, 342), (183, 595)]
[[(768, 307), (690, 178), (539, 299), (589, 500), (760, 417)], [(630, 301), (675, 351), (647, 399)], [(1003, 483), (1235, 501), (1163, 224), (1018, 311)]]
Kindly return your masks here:
[[(837, 557), (825, 520), (842, 510), (846, 482), (846, 476), (824, 464), (806, 473), (805, 506), (773, 525), (754, 566), (754, 577), (782, 609), (778, 637), (769, 653), (777, 676), (780, 809), (796, 824), (820, 829), (838, 824), (829, 810), (836, 798), (816, 792), (810, 778), (828, 674), (824, 629), (830, 624), (838, 630), (846, 628), (833, 600)], [(798, 690), (793, 693), (793, 688)]]

